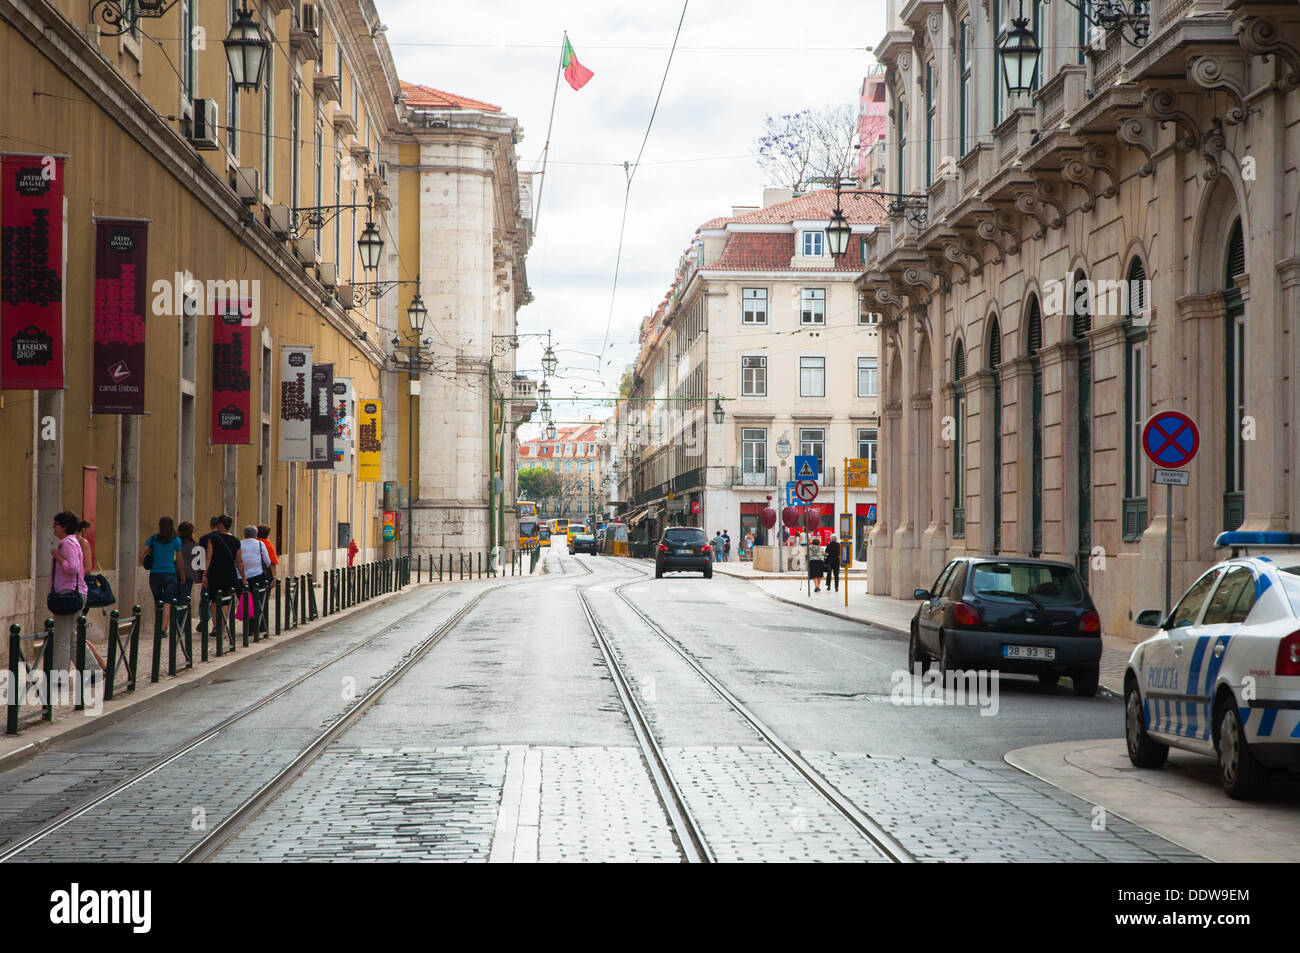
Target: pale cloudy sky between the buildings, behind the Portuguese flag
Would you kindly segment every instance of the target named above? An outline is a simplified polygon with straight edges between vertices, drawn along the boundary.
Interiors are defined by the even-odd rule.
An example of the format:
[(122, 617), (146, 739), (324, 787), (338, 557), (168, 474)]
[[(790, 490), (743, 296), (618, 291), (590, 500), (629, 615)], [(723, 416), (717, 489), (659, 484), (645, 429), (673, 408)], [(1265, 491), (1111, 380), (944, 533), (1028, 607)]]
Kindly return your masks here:
[[(636, 161), (646, 137), (681, 3), (376, 5), (402, 79), (493, 103), (520, 121), (524, 172), (541, 168), (566, 30), (578, 61), (595, 73), (577, 91), (560, 79), (526, 261), (534, 302), (519, 312), (521, 334), (551, 332), (556, 424), (612, 413), (598, 399), (618, 394), (624, 367), (636, 359), (641, 320), (668, 290), (696, 229), (732, 205), (760, 204), (763, 187), (777, 185), (764, 179), (753, 155), (763, 118), (855, 104), (885, 13), (884, 0), (833, 0), (816, 4), (816, 17), (792, 22), (788, 0), (686, 0), (629, 191), (623, 164)], [(538, 338), (520, 342), (521, 373), (541, 378), (543, 347)], [(538, 429), (526, 425), (520, 437)]]

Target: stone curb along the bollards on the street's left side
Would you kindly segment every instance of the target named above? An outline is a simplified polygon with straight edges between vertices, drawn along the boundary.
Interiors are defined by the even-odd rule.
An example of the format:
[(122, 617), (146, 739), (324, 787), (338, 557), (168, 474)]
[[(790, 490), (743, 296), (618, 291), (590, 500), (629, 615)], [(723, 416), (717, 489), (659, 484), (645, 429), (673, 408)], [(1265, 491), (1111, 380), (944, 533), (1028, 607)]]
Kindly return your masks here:
[[(142, 680), (139, 675), (136, 676), (136, 690), (131, 694), (122, 694), (120, 698), (114, 698), (112, 702), (105, 702), (105, 710), (103, 714), (94, 718), (84, 718), (81, 712), (70, 712), (70, 715), (64, 720), (62, 725), (57, 722), (52, 724), (42, 723), (40, 725), (34, 725), (29, 731), (39, 731), (40, 728), (53, 729), (46, 737), (36, 738), (35, 741), (29, 741), (26, 745), (17, 748), (5, 754), (0, 754), (0, 771), (8, 771), (9, 768), (22, 764), (38, 754), (43, 753), (48, 748), (61, 744), (64, 741), (74, 741), (87, 735), (92, 735), (101, 728), (108, 728), (118, 722), (135, 715), (140, 711), (147, 711), (153, 705), (164, 698), (174, 698), (182, 696), (186, 692), (191, 692), (195, 688), (208, 685), (217, 679), (217, 676), (224, 676), (233, 670), (240, 667), (246, 662), (252, 662), (254, 659), (264, 658), (265, 655), (277, 651), (281, 647), (290, 645), (296, 645), (300, 641), (317, 636), (328, 629), (332, 629), (337, 623), (347, 621), (354, 615), (365, 608), (377, 608), (389, 602), (393, 602), (399, 595), (415, 592), (416, 589), (430, 585), (429, 582), (412, 582), (407, 589), (402, 589), (394, 593), (387, 593), (378, 598), (370, 599), (368, 602), (358, 603), (356, 606), (350, 606), (337, 614), (329, 615), (326, 618), (318, 618), (315, 621), (300, 625), (292, 632), (285, 632), (280, 636), (270, 636), (270, 642), (266, 644), (265, 640), (259, 644), (259, 646), (250, 645), (242, 653), (233, 655), (224, 655), (221, 658), (222, 664), (213, 666), (212, 663), (217, 659), (209, 658), (207, 664), (208, 670), (203, 673), (198, 673), (198, 668), (183, 668), (177, 671), (174, 676), (162, 676), (157, 683), (148, 681), (148, 673), (144, 673)], [(265, 645), (265, 647), (261, 647)], [(203, 663), (198, 663), (203, 664)], [(194, 677), (185, 677), (185, 675), (192, 675)], [(165, 680), (164, 680), (165, 679)], [(152, 690), (151, 690), (152, 689)], [(147, 694), (142, 694), (142, 692)], [(121, 702), (121, 703), (118, 703)], [(113, 709), (108, 710), (112, 705)], [(75, 719), (81, 718), (78, 724)], [(5, 736), (10, 737), (10, 736)], [(21, 736), (16, 736), (21, 737)]]

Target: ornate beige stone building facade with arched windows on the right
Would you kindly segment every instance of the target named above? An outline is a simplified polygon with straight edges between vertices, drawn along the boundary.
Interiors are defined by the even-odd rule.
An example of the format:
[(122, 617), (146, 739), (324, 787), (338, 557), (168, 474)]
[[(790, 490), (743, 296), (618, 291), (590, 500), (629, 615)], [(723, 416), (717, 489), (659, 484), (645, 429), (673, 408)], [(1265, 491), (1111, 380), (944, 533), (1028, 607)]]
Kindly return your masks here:
[[(1006, 0), (890, 3), (890, 190), (859, 287), (884, 312), (875, 593), (959, 554), (1075, 563), (1112, 633), (1216, 559), (1225, 529), (1296, 530), (1300, 8), (1154, 0), (1149, 36)], [(1080, 44), (1080, 40), (1083, 43)], [(1173, 512), (1140, 434), (1200, 428)]]

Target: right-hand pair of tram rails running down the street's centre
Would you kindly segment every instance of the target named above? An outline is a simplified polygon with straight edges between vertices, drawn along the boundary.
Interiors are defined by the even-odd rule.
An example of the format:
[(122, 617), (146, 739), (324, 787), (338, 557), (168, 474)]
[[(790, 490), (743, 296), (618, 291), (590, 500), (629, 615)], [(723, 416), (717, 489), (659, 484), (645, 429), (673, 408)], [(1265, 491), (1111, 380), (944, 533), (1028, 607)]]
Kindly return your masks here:
[[(862, 835), (878, 852), (894, 863), (915, 863), (916, 858), (913, 857), (913, 854), (888, 831), (885, 831), (884, 827), (881, 827), (870, 814), (853, 803), (853, 801), (841, 794), (836, 787), (826, 779), (826, 776), (809, 764), (807, 761), (798, 754), (798, 751), (783, 741), (767, 723), (759, 719), (758, 715), (741, 702), (740, 698), (737, 698), (725, 685), (722, 684), (722, 681), (699, 664), (699, 662), (690, 654), (689, 650), (685, 649), (685, 646), (670, 636), (663, 627), (660, 627), (640, 606), (628, 598), (624, 592), (628, 586), (637, 585), (650, 579), (649, 573), (641, 572), (640, 568), (633, 568), (641, 579), (623, 582), (621, 585), (615, 586), (612, 593), (629, 610), (632, 610), (645, 627), (658, 636), (658, 638), (670, 649), (672, 649), (673, 653), (676, 653), (676, 655), (685, 662), (734, 714), (740, 715), (740, 718), (750, 725), (750, 728), (783, 762), (785, 762), (785, 764), (793, 768), (826, 803), (844, 816), (849, 824), (857, 829), (858, 833)], [(590, 569), (588, 569), (588, 572), (590, 572)], [(663, 750), (654, 737), (649, 719), (632, 692), (630, 681), (621, 663), (618, 660), (614, 646), (608, 640), (607, 631), (595, 618), (586, 593), (581, 589), (578, 589), (578, 601), (582, 603), (584, 615), (586, 616), (588, 624), (590, 625), (597, 640), (597, 645), (601, 647), (601, 654), (610, 670), (610, 675), (614, 679), (619, 699), (624, 706), (628, 720), (632, 723), (633, 732), (637, 736), (637, 744), (641, 748), (642, 757), (650, 771), (659, 802), (664, 809), (664, 813), (668, 815), (668, 823), (672, 826), (673, 837), (682, 852), (684, 859), (686, 862), (714, 861), (714, 853), (707, 844), (707, 839), (702, 835), (701, 827), (682, 796), (681, 787), (673, 777)]]

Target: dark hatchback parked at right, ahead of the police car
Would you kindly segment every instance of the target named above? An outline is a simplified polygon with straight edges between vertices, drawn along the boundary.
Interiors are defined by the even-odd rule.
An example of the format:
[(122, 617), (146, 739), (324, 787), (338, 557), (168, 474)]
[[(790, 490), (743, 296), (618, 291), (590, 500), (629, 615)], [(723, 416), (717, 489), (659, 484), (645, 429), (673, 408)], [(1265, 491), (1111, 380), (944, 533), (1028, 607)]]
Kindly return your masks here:
[(911, 620), (907, 664), (949, 671), (984, 668), (1062, 675), (1076, 696), (1097, 693), (1101, 616), (1069, 563), (1014, 556), (962, 556), (939, 573)]

